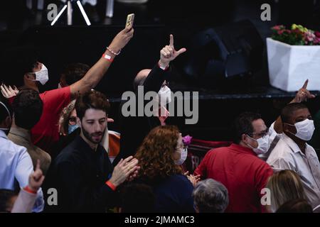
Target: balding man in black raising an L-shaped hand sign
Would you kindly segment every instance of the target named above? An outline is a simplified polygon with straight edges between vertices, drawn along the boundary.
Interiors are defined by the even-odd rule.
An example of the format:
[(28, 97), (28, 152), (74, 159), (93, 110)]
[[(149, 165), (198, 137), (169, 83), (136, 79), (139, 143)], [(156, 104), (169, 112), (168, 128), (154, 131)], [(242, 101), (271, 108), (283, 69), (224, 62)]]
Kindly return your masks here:
[[(186, 52), (186, 48), (181, 48), (180, 50), (174, 49), (174, 36), (170, 35), (170, 44), (161, 49), (159, 62), (157, 62), (152, 70), (141, 70), (134, 78), (133, 89), (136, 97), (138, 97), (138, 86), (144, 87), (144, 94), (151, 91), (159, 92), (161, 87), (165, 87), (167, 79), (172, 74), (172, 67), (169, 63), (183, 52)], [(138, 102), (137, 99), (136, 101)], [(112, 162), (114, 166), (122, 158), (135, 155), (137, 148), (139, 148), (139, 145), (149, 131), (156, 126), (164, 124), (166, 119), (166, 117), (156, 116), (123, 116), (122, 106), (126, 102), (127, 100), (122, 100), (122, 104), (120, 105), (120, 151), (114, 162)], [(136, 113), (137, 111), (138, 108), (136, 108)]]

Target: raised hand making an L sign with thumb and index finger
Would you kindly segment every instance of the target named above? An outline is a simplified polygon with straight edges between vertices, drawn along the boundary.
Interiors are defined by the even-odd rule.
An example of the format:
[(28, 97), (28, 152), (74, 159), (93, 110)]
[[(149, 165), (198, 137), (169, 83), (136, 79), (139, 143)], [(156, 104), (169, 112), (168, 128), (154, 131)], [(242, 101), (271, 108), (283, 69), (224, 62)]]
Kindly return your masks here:
[(174, 49), (174, 35), (170, 35), (170, 43), (160, 50), (160, 60), (159, 64), (161, 67), (167, 67), (169, 62), (176, 59), (178, 55), (186, 52), (186, 48), (181, 48), (180, 50)]

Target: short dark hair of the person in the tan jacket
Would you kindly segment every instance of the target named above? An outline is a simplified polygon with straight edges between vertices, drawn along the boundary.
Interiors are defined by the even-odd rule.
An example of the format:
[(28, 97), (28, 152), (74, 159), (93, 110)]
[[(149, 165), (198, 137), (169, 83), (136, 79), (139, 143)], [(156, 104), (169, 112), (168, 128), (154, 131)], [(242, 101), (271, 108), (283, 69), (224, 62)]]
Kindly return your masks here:
[(35, 90), (23, 89), (16, 95), (12, 109), (16, 125), (30, 130), (41, 118), (43, 101)]

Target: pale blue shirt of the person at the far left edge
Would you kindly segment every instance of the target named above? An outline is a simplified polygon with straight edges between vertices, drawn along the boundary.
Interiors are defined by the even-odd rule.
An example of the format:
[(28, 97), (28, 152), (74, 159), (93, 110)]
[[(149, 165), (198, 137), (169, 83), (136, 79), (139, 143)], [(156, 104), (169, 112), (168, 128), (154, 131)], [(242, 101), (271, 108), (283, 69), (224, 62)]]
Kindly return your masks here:
[[(0, 189), (14, 190), (15, 180), (21, 188), (26, 187), (32, 172), (33, 164), (26, 148), (13, 143), (0, 130)], [(41, 212), (43, 207), (43, 192), (39, 189), (33, 211)]]

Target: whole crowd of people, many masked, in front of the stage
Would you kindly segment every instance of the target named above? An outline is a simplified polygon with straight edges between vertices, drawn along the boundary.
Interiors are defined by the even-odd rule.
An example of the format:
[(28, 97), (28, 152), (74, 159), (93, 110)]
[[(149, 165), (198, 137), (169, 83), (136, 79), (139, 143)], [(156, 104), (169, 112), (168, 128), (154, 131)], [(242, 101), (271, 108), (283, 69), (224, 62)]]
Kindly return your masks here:
[(28, 55), (16, 64), (23, 85), (1, 84), (0, 211), (319, 211), (320, 163), (307, 143), (314, 122), (303, 104), (314, 98), (307, 81), (270, 127), (259, 114), (240, 114), (233, 143), (208, 151), (189, 174), (181, 167), (188, 146), (166, 123), (171, 61), (186, 51), (176, 50), (170, 35), (159, 61), (133, 82), (136, 93), (139, 86), (158, 93), (157, 114), (120, 111), (119, 133), (108, 131), (110, 102), (94, 88), (133, 35), (124, 28), (95, 65), (68, 65), (58, 88), (43, 93), (43, 62)]

